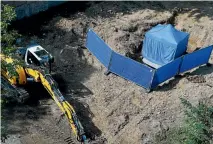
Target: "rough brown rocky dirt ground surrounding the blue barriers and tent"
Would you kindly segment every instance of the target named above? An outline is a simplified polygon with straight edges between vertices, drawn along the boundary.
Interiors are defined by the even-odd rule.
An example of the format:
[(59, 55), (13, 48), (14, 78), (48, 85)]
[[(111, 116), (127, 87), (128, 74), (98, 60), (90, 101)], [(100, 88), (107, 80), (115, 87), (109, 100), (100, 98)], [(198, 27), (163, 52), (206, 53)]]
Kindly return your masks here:
[[(153, 92), (145, 93), (143, 88), (121, 77), (105, 76), (104, 66), (84, 47), (86, 31), (93, 28), (112, 49), (135, 58), (145, 32), (159, 23), (171, 23), (177, 29), (189, 32), (188, 52), (212, 45), (212, 2), (90, 4), (82, 12), (53, 17), (42, 25), (39, 35), (25, 33), (25, 36), (27, 40), (36, 40), (55, 56), (54, 71), (61, 75), (57, 80), (61, 91), (74, 105), (86, 132), (94, 136), (91, 143), (155, 143), (156, 135), (164, 137), (170, 128), (181, 125), (183, 107), (179, 97), (193, 104), (200, 100), (213, 104), (212, 67), (194, 69), (190, 75), (172, 79)], [(213, 63), (213, 55), (210, 62)], [(40, 109), (45, 108), (36, 120), (24, 119), (17, 139), (67, 143), (64, 139), (70, 136), (69, 127), (65, 121), (56, 125), (57, 106), (51, 99), (39, 101), (43, 103), (36, 107), (25, 106), (24, 116), (19, 114), (23, 108), (20, 108), (21, 112), (13, 110), (13, 114), (25, 117), (30, 109), (42, 112)], [(16, 119), (11, 125), (19, 125), (16, 121), (22, 122)], [(13, 143), (9, 140), (7, 143)]]

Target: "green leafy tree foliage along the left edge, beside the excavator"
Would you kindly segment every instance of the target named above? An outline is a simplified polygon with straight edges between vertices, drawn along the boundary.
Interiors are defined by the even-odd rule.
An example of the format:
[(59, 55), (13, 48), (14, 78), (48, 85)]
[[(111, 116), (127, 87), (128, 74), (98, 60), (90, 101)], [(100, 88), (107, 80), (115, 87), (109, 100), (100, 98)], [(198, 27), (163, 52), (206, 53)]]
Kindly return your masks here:
[[(16, 75), (16, 71), (14, 69), (14, 65), (22, 64), (20, 59), (15, 55), (15, 40), (19, 36), (17, 31), (9, 30), (9, 25), (11, 22), (16, 18), (16, 14), (13, 7), (8, 5), (1, 6), (1, 53), (4, 54), (6, 57), (14, 58), (13, 63), (6, 63), (1, 61), (1, 69), (7, 69), (11, 76)], [(4, 108), (5, 104), (9, 103), (8, 99), (4, 97), (4, 95), (9, 91), (3, 89), (3, 85), (1, 82), (1, 109)], [(1, 140), (4, 141), (6, 138), (7, 133), (7, 123), (3, 117), (3, 109), (2, 109), (2, 116), (1, 116)]]

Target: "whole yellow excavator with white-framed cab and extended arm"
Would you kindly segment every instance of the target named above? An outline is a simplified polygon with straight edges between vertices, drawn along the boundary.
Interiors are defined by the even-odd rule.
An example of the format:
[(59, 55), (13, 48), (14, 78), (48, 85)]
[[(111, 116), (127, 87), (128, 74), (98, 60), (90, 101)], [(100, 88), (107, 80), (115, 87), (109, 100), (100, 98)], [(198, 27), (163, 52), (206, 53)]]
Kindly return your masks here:
[[(23, 86), (28, 83), (41, 83), (44, 88), (51, 95), (60, 110), (67, 117), (70, 127), (75, 134), (78, 141), (85, 144), (87, 137), (84, 128), (81, 125), (74, 108), (65, 100), (57, 87), (57, 83), (51, 76), (51, 63), (53, 63), (53, 56), (38, 44), (29, 45), (26, 48), (17, 50), (17, 54), (25, 61), (25, 66), (15, 65), (16, 75), (12, 75), (7, 68), (1, 69), (1, 83), (7, 82), (9, 89), (16, 91), (19, 100), (24, 102), (27, 98), (27, 92)], [(13, 63), (14, 59), (11, 57), (1, 56), (1, 62), (7, 64)], [(49, 68), (49, 70), (47, 70)]]

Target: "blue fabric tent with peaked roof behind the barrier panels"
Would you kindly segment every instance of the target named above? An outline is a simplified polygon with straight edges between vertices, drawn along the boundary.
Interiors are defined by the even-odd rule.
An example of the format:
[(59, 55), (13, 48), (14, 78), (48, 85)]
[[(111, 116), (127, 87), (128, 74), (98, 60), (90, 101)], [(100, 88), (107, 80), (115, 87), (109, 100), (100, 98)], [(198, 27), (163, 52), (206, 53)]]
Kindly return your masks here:
[(189, 34), (171, 24), (153, 27), (145, 34), (142, 56), (151, 63), (165, 65), (184, 54)]

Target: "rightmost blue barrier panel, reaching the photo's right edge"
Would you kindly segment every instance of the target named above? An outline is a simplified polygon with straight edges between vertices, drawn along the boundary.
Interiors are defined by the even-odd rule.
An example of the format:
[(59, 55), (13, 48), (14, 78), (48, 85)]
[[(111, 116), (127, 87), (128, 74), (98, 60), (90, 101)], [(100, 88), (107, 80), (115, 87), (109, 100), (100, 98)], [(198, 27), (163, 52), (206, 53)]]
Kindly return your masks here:
[(213, 46), (203, 48), (193, 53), (187, 54), (183, 57), (179, 73), (188, 71), (199, 65), (206, 64), (209, 61)]

